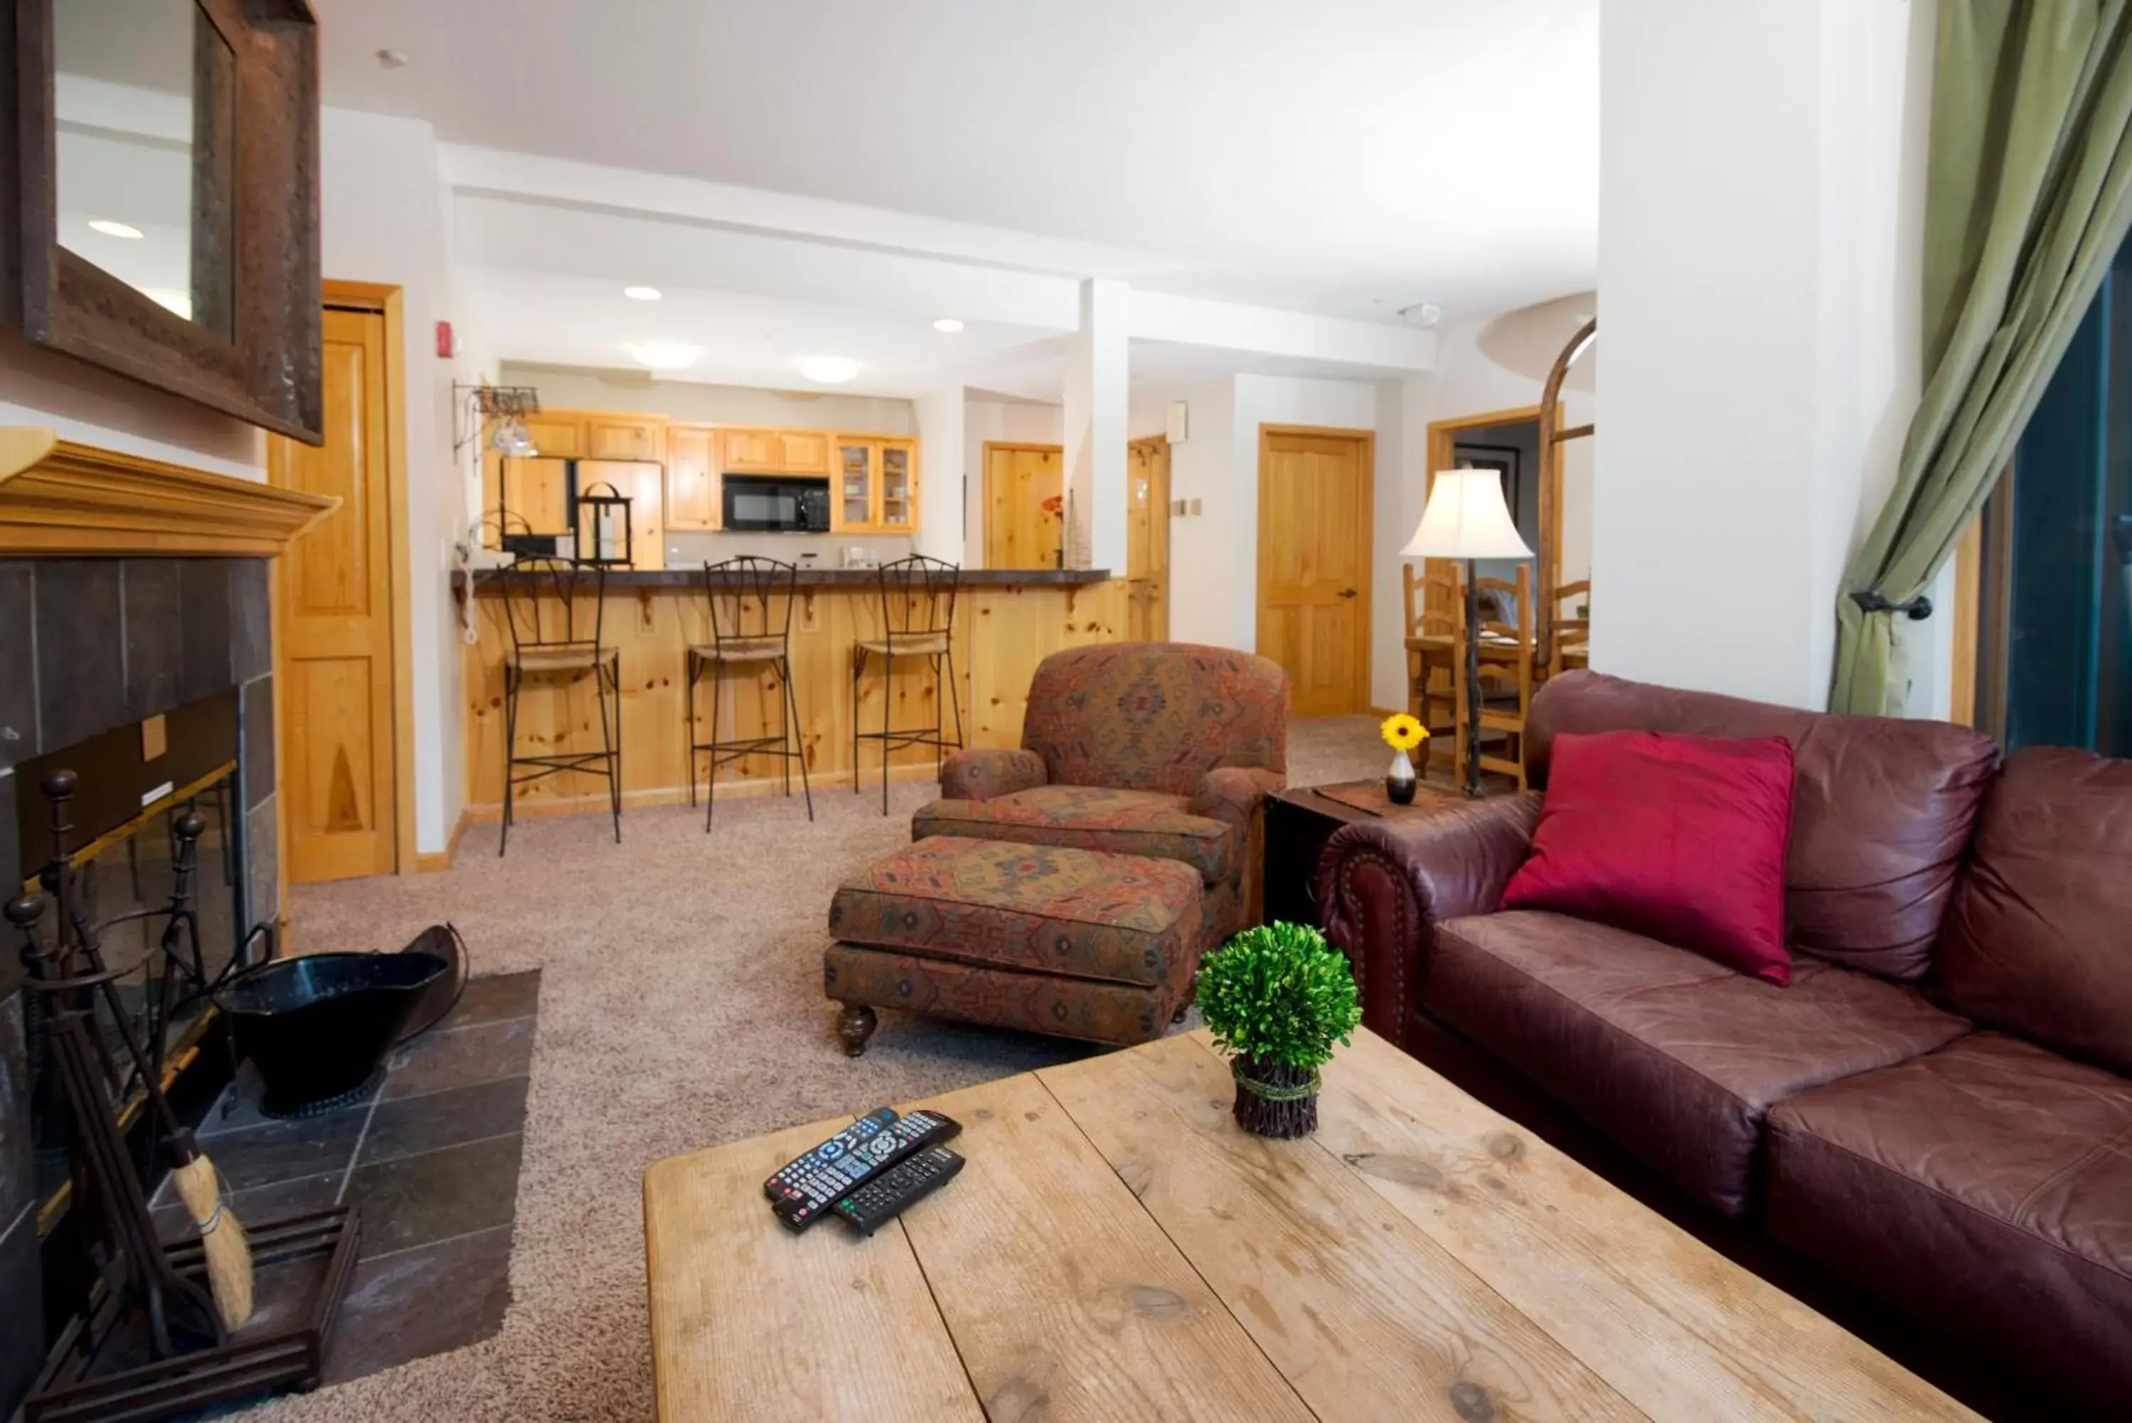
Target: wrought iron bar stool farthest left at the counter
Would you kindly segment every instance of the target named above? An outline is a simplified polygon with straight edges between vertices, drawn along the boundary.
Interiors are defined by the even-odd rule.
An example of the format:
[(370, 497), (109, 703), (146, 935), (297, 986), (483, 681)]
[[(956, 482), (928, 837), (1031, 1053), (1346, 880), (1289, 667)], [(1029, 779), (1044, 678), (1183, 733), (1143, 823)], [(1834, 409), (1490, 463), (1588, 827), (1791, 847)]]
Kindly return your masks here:
[[(614, 843), (623, 843), (623, 655), (601, 640), (608, 606), (608, 567), (576, 559), (518, 559), (503, 567), (503, 621), (512, 646), (503, 655), (503, 836), (512, 841), (512, 815), (520, 785), (574, 770), (605, 777)], [(527, 678), (574, 683), (593, 676), (599, 713), (599, 751), (544, 751), (518, 755), (518, 693)], [(567, 725), (567, 719), (563, 719)], [(520, 772), (520, 766), (527, 768)]]

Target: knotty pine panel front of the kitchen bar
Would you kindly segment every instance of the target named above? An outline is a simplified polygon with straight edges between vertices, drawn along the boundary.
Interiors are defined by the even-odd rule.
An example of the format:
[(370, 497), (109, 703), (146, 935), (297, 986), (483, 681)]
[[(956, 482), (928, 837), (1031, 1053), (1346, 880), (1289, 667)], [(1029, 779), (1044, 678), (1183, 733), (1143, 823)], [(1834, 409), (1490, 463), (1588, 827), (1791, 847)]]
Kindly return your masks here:
[[(461, 585), (465, 587), (465, 585)], [(463, 593), (465, 595), (465, 593)], [(495, 821), (503, 815), (503, 659), (510, 629), (492, 576), (473, 589), (478, 638), (463, 646), (467, 815)], [(623, 798), (625, 804), (674, 804), (689, 798), (687, 651), (710, 642), (710, 604), (701, 580), (689, 574), (612, 574), (605, 591), (601, 638), (620, 649), (623, 663)], [(800, 702), (800, 745), (814, 794), (851, 794), (853, 708), (851, 651), (881, 638), (881, 593), (868, 578), (804, 578), (791, 621), (793, 691)], [(955, 606), (955, 685), (962, 702), (964, 742), (1015, 747), (1030, 678), (1047, 655), (1087, 642), (1126, 636), (1126, 582), (1102, 574), (1064, 580), (979, 572)], [(765, 668), (729, 670), (721, 687), (718, 738), (776, 734), (778, 681)], [(885, 676), (874, 657), (861, 683), (857, 728), (878, 732), (883, 698), (895, 728), (932, 725), (934, 676), (921, 657), (898, 657)], [(697, 691), (697, 738), (708, 740), (710, 678)], [(953, 710), (947, 710), (953, 728)], [(518, 693), (518, 753), (599, 749), (593, 681), (529, 681)], [(704, 762), (697, 757), (697, 783)], [(881, 777), (881, 742), (859, 742), (866, 785)], [(908, 747), (889, 757), (891, 781), (930, 781), (934, 753)], [(718, 796), (782, 792), (774, 757), (729, 762), (718, 772)], [(797, 796), (797, 772), (793, 794)], [(567, 811), (605, 813), (608, 792), (597, 777), (556, 774), (518, 787), (518, 815)]]

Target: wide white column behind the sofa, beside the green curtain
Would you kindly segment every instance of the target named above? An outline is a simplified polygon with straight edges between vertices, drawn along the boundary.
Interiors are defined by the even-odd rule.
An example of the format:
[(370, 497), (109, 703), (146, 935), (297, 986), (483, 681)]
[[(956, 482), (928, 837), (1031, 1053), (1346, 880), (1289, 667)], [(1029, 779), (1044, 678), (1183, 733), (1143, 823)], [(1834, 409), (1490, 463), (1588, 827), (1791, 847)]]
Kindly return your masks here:
[(1932, 9), (1601, 2), (1597, 670), (1825, 704), (1917, 401)]

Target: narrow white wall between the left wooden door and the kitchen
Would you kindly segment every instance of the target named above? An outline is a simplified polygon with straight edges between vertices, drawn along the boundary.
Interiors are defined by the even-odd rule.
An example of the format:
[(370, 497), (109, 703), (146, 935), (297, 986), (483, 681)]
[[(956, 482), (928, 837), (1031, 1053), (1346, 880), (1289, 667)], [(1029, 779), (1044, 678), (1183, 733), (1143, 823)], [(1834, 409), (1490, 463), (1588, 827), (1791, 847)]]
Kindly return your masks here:
[(450, 250), (437, 137), (429, 124), (348, 109), (320, 115), (324, 275), (401, 288), (407, 401), (407, 587), (414, 631), (416, 849), (441, 851), (465, 800), (458, 638), (448, 557), (465, 531), (452, 457)]

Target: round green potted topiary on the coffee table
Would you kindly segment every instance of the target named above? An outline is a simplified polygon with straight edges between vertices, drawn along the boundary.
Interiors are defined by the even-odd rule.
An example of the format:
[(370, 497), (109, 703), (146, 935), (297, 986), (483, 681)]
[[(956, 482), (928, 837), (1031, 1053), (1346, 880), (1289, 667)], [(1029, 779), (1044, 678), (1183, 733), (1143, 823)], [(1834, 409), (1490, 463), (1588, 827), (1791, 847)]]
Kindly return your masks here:
[(1237, 1124), (1281, 1141), (1318, 1131), (1318, 1067), (1362, 1022), (1347, 958), (1315, 928), (1247, 928), (1200, 964), (1198, 1003), (1230, 1054)]

